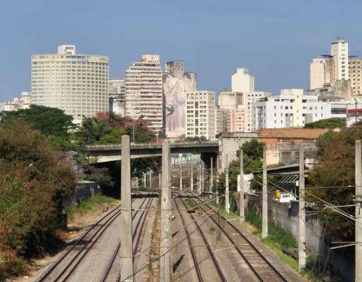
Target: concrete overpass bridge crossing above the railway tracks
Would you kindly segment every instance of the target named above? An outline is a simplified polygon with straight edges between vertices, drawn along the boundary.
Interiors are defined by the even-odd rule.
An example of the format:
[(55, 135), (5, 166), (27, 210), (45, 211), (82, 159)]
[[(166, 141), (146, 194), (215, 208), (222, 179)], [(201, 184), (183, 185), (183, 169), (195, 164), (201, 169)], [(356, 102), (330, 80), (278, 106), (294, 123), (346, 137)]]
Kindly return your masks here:
[[(91, 145), (84, 150), (88, 153), (91, 163), (113, 162), (121, 159), (121, 146), (116, 145)], [(200, 154), (201, 158), (209, 159), (219, 155), (219, 141), (203, 142), (171, 142), (171, 154), (193, 153)], [(159, 157), (162, 155), (162, 144), (134, 144), (131, 145), (131, 159), (142, 157)]]

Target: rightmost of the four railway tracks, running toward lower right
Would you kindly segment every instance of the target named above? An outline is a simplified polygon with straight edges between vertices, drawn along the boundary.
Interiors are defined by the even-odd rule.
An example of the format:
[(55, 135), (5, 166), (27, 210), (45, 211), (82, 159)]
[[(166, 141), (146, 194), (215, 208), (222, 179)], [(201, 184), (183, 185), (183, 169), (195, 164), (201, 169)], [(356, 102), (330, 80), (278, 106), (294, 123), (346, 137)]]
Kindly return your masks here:
[[(199, 205), (200, 203), (196, 202), (194, 199), (192, 199), (196, 205)], [(204, 203), (200, 198), (198, 198), (198, 201), (201, 203)], [(205, 209), (203, 206), (207, 207)], [(202, 210), (203, 212), (207, 212), (207, 217), (212, 219), (214, 224), (216, 224), (221, 232), (228, 238), (230, 241), (230, 244), (233, 244), (235, 247), (235, 250), (239, 255), (242, 257), (242, 259), (245, 261), (246, 265), (251, 269), (255, 277), (259, 281), (288, 281), (284, 278), (284, 276), (278, 272), (278, 269), (276, 269), (270, 262), (265, 258), (265, 256), (260, 253), (258, 248), (254, 246), (254, 244), (242, 234), (242, 232), (236, 228), (233, 224), (230, 223), (225, 217), (223, 217), (219, 212), (214, 210), (213, 207), (211, 207), (209, 204), (204, 203), (204, 205), (199, 205), (198, 208)], [(214, 211), (216, 214), (219, 215), (221, 219), (223, 219), (223, 222), (226, 224), (223, 224), (223, 226), (220, 225), (218, 221), (212, 217), (210, 214), (210, 210)], [(231, 237), (229, 234), (235, 234), (239, 236), (233, 236)]]

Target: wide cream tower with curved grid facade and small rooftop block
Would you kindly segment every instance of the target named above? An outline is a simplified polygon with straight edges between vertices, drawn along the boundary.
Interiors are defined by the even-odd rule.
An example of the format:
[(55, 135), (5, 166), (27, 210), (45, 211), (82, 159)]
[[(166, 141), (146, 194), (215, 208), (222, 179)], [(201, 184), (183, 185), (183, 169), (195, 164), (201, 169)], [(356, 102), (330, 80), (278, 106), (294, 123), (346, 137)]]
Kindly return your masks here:
[(77, 54), (74, 45), (57, 54), (31, 56), (31, 103), (62, 109), (74, 123), (109, 110), (109, 58)]

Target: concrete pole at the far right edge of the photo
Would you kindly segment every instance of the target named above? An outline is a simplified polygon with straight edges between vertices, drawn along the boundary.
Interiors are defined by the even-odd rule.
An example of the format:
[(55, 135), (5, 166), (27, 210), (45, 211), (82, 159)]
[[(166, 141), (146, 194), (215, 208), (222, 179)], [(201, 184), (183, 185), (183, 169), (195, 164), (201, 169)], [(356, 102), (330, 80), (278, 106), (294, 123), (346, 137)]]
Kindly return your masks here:
[[(362, 146), (361, 140), (356, 140), (356, 204), (362, 201)], [(362, 210), (361, 205), (356, 205), (356, 245), (355, 245), (355, 279), (354, 281), (362, 281)]]

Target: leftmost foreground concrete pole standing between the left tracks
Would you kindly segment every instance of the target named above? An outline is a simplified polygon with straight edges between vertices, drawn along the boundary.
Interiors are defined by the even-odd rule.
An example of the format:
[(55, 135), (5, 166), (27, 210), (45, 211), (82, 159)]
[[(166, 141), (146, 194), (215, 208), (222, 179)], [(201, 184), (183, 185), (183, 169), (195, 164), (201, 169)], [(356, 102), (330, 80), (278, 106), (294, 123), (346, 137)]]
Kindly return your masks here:
[(129, 136), (122, 136), (122, 161), (120, 168), (120, 280), (133, 281), (133, 240), (132, 240), (132, 201), (131, 201), (131, 154)]

